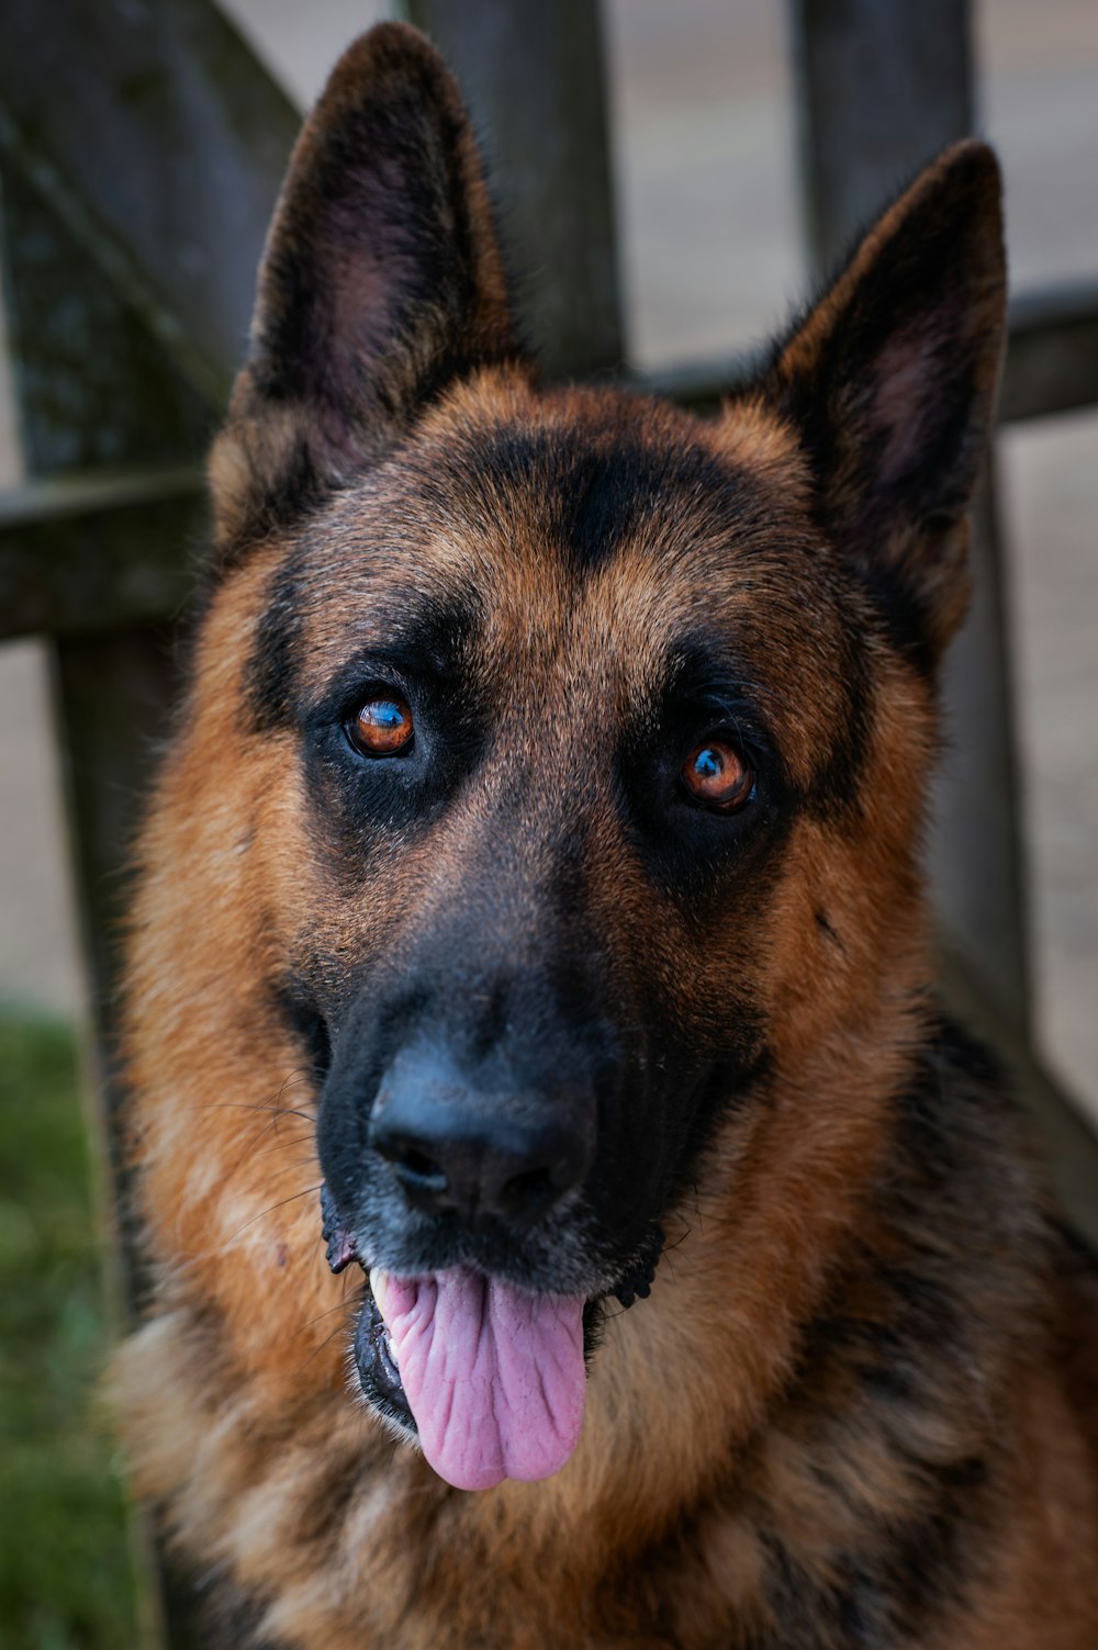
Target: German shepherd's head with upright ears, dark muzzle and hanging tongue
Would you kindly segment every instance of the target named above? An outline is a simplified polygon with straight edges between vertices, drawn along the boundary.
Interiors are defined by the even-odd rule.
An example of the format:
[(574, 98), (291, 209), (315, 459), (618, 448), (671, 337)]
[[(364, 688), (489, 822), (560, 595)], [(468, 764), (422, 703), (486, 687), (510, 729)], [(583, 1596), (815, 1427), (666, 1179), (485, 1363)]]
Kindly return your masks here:
[(373, 1275), (358, 1376), (452, 1482), (566, 1459), (601, 1304), (647, 1292), (717, 1142), (748, 1185), (774, 1072), (903, 975), (1001, 322), (969, 145), (717, 421), (545, 391), (426, 45), (375, 31), (302, 137), (211, 622), (251, 625), (234, 827), (329, 1252)]

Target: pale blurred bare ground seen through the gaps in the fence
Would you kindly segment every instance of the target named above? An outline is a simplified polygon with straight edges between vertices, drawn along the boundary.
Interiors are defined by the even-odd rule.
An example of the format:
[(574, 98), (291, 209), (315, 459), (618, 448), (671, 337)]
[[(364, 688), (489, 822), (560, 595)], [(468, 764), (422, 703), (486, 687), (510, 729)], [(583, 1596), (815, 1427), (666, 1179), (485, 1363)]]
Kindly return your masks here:
[[(348, 0), (226, 10), (304, 106), (381, 13)], [(731, 350), (802, 266), (779, 0), (609, 0), (622, 289), (642, 366)], [(1098, 276), (1095, 0), (982, 0), (979, 109), (1007, 175), (1015, 290)], [(1098, 414), (1001, 439), (1025, 769), (1039, 1023), (1098, 1119)], [(0, 383), (0, 485), (18, 475)], [(0, 650), (0, 998), (78, 1011), (68, 868), (36, 644)]]

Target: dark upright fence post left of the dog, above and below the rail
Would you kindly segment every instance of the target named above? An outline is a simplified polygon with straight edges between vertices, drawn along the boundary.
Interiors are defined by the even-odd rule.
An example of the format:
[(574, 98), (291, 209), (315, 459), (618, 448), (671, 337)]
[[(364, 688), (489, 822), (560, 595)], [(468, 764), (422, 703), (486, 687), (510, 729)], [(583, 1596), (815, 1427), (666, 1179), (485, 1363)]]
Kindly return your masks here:
[[(0, 201), (0, 264), (5, 277), (17, 416), (25, 462), (50, 475), (94, 460), (106, 442), (124, 454), (127, 427), (150, 450), (180, 439), (193, 404), (188, 391), (152, 368), (155, 351), (130, 361), (124, 338), (129, 318), (109, 289), (84, 266), (73, 292), (73, 246), (64, 229), (25, 180), (5, 172)], [(66, 292), (61, 309), (56, 290)], [(111, 345), (121, 358), (111, 356)], [(97, 355), (97, 351), (102, 351)], [(83, 375), (84, 361), (96, 361)], [(134, 371), (127, 373), (127, 366)], [(107, 401), (114, 393), (114, 417)], [(117, 1114), (121, 1087), (114, 1053), (114, 998), (124, 865), (137, 802), (149, 777), (152, 739), (173, 698), (172, 658), (163, 627), (109, 629), (78, 640), (48, 639), (54, 731), (61, 756), (69, 850), (74, 863), (78, 927), (91, 997), (94, 1041), (88, 1049), (92, 1082), (86, 1117), (97, 1162), (106, 1165), (109, 1236), (106, 1275), (117, 1320), (129, 1318), (140, 1292), (137, 1246), (129, 1213)], [(152, 1559), (147, 1516), (134, 1510), (130, 1534), (139, 1576), (140, 1650), (165, 1642), (167, 1586)], [(178, 1610), (173, 1612), (177, 1617)], [(178, 1650), (196, 1640), (180, 1632)]]

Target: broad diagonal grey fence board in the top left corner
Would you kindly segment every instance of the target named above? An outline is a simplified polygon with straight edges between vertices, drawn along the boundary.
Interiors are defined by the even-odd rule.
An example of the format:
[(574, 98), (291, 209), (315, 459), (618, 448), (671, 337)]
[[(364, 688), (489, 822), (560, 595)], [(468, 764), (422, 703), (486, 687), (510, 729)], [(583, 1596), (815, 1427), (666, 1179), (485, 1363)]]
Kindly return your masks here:
[(0, 152), (215, 406), (299, 124), (210, 0), (0, 5)]

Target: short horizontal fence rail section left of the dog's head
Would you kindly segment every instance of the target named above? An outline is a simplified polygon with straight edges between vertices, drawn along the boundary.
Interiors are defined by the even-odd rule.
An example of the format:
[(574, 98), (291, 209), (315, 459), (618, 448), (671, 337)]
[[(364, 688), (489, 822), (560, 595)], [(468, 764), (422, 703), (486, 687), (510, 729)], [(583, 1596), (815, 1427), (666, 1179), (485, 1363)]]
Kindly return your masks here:
[(205, 530), (203, 475), (89, 472), (0, 493), (0, 639), (89, 637), (178, 614), (188, 544)]

